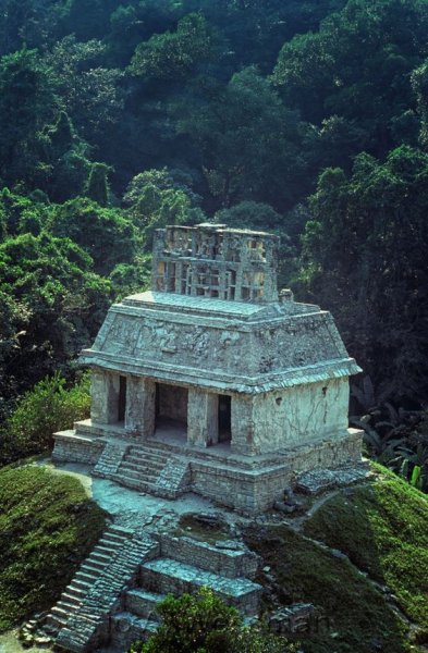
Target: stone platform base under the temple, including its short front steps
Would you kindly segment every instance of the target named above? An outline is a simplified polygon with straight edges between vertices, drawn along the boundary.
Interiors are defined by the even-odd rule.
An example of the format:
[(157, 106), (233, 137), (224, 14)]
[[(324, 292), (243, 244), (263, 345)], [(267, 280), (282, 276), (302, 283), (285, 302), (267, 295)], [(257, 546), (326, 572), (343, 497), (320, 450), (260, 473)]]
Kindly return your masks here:
[(230, 443), (188, 444), (186, 430), (173, 422), (148, 439), (130, 435), (123, 424), (90, 420), (54, 434), (53, 459), (93, 466), (93, 475), (138, 492), (176, 498), (194, 492), (218, 505), (258, 514), (283, 498), (298, 475), (360, 464), (362, 431), (346, 431), (274, 454), (245, 456)]

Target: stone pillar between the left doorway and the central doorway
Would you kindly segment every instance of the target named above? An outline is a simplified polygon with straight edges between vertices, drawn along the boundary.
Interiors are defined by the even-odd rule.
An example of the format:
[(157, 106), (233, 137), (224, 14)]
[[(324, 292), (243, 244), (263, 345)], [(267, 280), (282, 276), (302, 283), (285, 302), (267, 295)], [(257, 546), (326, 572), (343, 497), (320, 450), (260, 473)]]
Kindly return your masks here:
[(127, 377), (125, 429), (143, 439), (155, 433), (155, 381), (144, 377)]

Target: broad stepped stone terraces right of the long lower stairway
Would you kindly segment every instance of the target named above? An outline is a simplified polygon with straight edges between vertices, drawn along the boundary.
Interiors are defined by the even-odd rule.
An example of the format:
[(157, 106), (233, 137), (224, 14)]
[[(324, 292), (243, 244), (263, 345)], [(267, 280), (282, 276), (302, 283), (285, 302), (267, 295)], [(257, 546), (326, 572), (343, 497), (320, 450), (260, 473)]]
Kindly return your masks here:
[(160, 556), (140, 565), (136, 587), (125, 592), (122, 612), (112, 616), (112, 651), (150, 637), (159, 627), (156, 605), (166, 594), (208, 587), (245, 617), (257, 617), (261, 587), (250, 580), (259, 565), (255, 554), (236, 543), (222, 549), (189, 538), (157, 537)]

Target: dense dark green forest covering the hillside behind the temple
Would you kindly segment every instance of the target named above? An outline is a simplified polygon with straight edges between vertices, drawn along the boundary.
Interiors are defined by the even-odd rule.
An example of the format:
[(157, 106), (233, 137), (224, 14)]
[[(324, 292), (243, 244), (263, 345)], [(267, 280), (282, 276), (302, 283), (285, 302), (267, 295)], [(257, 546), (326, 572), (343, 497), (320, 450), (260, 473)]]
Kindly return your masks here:
[(75, 379), (154, 229), (219, 221), (281, 235), (282, 285), (364, 368), (371, 449), (428, 473), (428, 1), (0, 9), (1, 419)]

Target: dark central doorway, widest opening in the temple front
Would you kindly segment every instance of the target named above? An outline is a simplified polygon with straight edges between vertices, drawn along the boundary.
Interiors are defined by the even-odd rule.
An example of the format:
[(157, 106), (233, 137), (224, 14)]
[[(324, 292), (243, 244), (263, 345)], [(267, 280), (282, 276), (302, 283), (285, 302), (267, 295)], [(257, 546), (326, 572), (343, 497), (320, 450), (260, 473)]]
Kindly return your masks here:
[(156, 429), (176, 427), (181, 432), (187, 431), (188, 391), (181, 385), (156, 384)]

